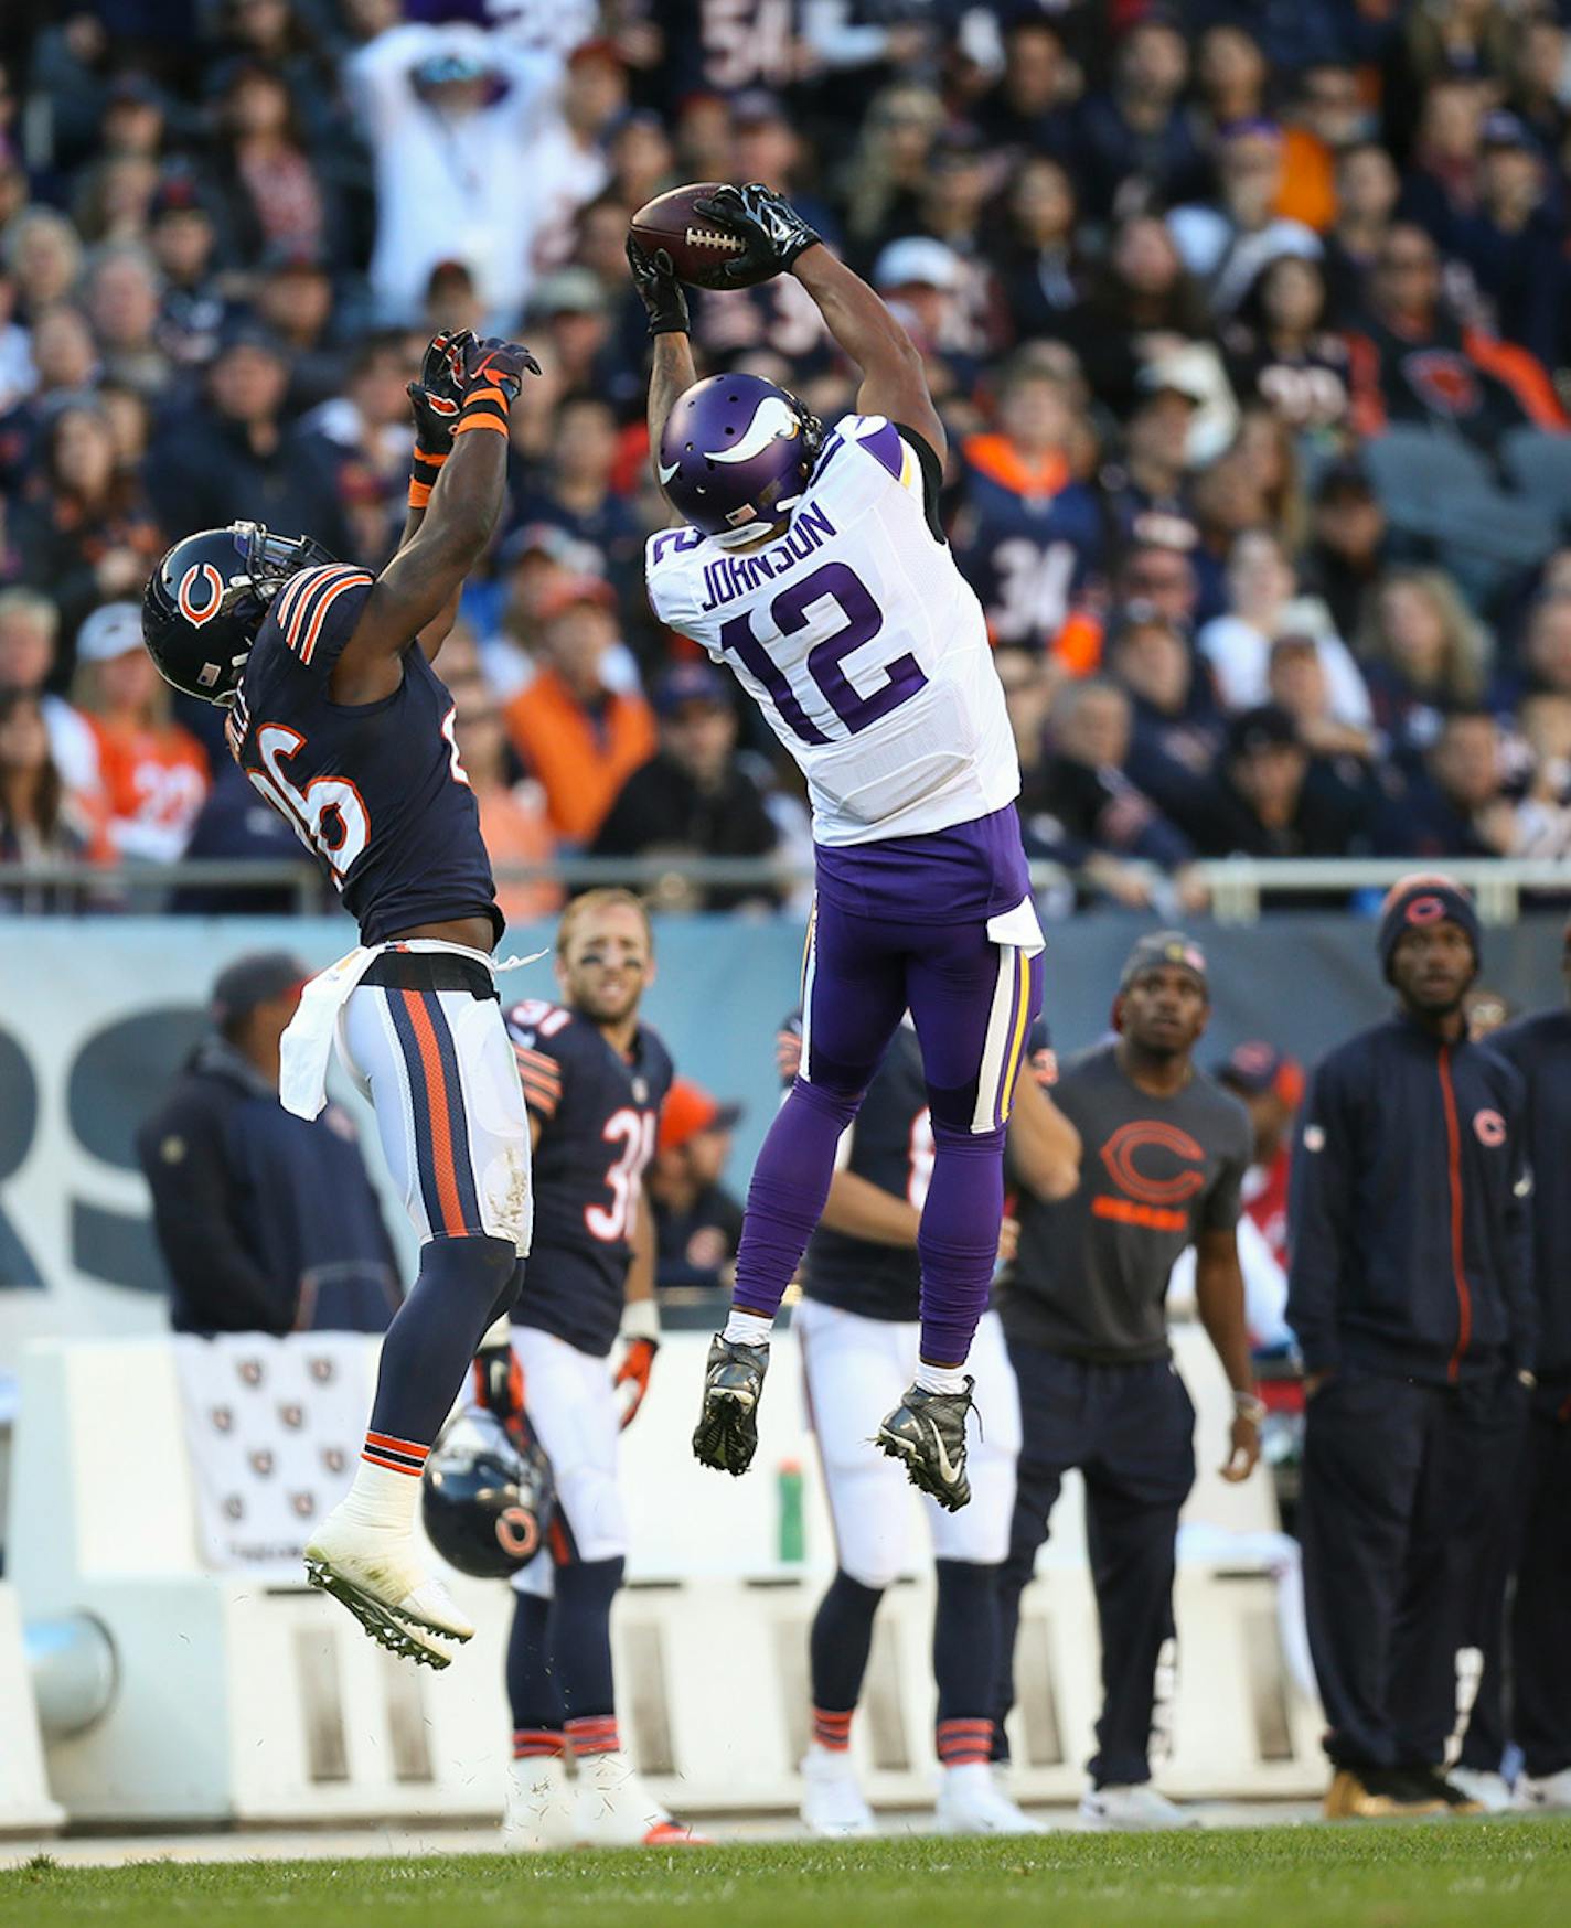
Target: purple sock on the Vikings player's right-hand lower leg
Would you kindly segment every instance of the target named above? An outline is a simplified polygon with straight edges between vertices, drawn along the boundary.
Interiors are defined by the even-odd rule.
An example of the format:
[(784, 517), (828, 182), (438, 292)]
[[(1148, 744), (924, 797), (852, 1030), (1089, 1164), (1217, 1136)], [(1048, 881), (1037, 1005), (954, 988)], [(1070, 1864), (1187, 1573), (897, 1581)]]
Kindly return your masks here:
[(1004, 1128), (956, 1132), (935, 1124), (933, 1147), (933, 1182), (916, 1238), (921, 1357), (956, 1365), (972, 1350), (993, 1288), (1004, 1217)]

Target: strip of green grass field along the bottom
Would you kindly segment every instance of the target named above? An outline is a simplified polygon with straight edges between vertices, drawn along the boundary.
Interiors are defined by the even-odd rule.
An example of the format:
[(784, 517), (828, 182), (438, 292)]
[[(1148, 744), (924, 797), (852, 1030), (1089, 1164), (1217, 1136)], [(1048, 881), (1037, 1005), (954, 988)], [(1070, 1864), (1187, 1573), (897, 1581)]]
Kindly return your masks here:
[(682, 1853), (145, 1862), (0, 1872), (56, 1928), (1517, 1928), (1571, 1920), (1571, 1822), (1249, 1828)]

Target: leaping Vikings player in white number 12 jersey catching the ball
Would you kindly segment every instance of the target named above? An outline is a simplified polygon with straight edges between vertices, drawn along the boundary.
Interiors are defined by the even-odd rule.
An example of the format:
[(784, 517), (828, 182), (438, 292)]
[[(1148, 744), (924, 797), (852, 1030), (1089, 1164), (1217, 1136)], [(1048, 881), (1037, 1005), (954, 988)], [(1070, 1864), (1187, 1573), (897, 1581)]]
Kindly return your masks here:
[(671, 258), (628, 241), (653, 335), (655, 472), (686, 524), (650, 538), (650, 602), (731, 665), (802, 765), (817, 852), (802, 1070), (754, 1166), (692, 1444), (706, 1465), (748, 1469), (771, 1321), (910, 1008), (933, 1114), (921, 1346), (877, 1444), (954, 1510), (970, 1498), (964, 1367), (999, 1249), (1004, 1122), (1041, 1003), (1020, 765), (981, 603), (939, 528), (945, 428), (910, 337), (769, 189), (725, 187), (700, 212), (744, 243), (738, 276), (796, 276), (862, 386), (825, 436), (773, 382), (698, 382)]

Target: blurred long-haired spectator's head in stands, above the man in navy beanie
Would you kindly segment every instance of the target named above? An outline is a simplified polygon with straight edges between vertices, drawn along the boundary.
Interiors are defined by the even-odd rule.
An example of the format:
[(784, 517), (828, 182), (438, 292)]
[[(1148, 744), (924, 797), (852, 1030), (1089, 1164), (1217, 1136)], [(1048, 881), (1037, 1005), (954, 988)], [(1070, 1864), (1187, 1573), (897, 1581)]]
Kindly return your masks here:
[(1380, 578), (1359, 656), (1374, 725), (1405, 765), (1425, 758), (1446, 711), (1482, 700), (1488, 640), (1438, 569), (1392, 569)]

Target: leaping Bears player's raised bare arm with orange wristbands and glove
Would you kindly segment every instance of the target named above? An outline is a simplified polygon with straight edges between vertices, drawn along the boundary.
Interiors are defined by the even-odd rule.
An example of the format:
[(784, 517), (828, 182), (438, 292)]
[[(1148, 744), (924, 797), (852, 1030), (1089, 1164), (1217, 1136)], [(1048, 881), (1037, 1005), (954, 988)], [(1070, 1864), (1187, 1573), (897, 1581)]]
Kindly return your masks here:
[(528, 349), (507, 341), (468, 345), (453, 453), (432, 486), (420, 526), (376, 578), (333, 665), (335, 702), (391, 696), (403, 681), (405, 652), (438, 621), (486, 553), (507, 480), (507, 411), (524, 370), (540, 372)]

